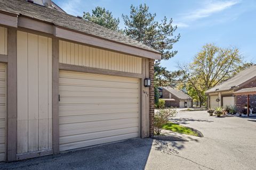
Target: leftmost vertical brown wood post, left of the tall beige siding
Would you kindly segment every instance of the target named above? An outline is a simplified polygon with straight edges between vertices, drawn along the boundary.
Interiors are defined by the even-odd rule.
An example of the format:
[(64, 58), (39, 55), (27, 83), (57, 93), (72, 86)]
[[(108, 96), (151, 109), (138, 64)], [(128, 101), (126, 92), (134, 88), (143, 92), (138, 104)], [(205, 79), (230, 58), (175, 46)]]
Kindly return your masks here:
[(16, 160), (17, 154), (17, 31), (8, 28), (7, 65), (7, 162)]

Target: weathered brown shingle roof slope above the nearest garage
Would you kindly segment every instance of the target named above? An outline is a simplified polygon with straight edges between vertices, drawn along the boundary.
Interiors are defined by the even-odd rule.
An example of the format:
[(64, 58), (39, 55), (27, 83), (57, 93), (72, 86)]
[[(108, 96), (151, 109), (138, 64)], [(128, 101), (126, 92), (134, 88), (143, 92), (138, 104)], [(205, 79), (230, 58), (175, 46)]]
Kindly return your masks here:
[(25, 0), (1, 0), (0, 11), (27, 16), (36, 20), (49, 22), (63, 28), (161, 54), (157, 50), (131, 39), (130, 37), (127, 37), (117, 31), (112, 31), (91, 21), (79, 19), (76, 16), (54, 10), (50, 7), (28, 3)]

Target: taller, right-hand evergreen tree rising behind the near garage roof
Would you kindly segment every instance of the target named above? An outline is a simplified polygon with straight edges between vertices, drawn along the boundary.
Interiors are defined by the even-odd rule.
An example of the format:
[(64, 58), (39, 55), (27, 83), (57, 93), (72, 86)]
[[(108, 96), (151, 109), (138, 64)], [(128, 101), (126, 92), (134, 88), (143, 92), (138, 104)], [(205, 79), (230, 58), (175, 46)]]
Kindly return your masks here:
[[(167, 20), (164, 16), (161, 22), (155, 21), (156, 14), (151, 14), (146, 4), (139, 7), (131, 5), (130, 15), (123, 14), (122, 17), (124, 33), (161, 52), (161, 60), (169, 60), (178, 53), (177, 50), (172, 50), (180, 38), (180, 34), (174, 36), (177, 27), (172, 25), (172, 19)], [(155, 62), (155, 81), (157, 84), (169, 84), (173, 74), (161, 66), (161, 60)]]

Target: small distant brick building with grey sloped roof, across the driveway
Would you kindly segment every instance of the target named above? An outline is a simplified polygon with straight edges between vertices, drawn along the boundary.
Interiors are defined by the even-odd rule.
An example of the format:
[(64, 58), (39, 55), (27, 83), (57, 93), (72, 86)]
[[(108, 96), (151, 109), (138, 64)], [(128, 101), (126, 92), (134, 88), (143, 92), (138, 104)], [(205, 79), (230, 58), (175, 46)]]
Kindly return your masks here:
[(163, 99), (167, 107), (192, 107), (192, 98), (185, 92), (172, 87), (162, 88)]

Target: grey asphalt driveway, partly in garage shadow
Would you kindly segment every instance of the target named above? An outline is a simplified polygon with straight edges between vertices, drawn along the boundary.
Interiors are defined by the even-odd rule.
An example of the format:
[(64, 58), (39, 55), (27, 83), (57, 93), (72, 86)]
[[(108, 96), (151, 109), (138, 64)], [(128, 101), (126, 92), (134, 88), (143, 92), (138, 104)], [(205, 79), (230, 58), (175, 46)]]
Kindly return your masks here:
[[(201, 131), (186, 142), (131, 139), (58, 156), (0, 164), (0, 169), (255, 169), (256, 119), (210, 117), (206, 111), (172, 118)], [(182, 135), (181, 135), (182, 137)]]

